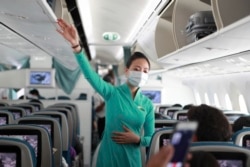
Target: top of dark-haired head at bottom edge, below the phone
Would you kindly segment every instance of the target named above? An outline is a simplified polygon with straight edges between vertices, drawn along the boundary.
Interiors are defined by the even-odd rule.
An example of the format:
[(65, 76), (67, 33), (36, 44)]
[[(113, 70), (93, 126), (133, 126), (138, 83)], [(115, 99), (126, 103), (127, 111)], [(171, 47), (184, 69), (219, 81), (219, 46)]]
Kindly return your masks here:
[(192, 167), (219, 167), (217, 159), (211, 153), (204, 151), (192, 151), (189, 164)]

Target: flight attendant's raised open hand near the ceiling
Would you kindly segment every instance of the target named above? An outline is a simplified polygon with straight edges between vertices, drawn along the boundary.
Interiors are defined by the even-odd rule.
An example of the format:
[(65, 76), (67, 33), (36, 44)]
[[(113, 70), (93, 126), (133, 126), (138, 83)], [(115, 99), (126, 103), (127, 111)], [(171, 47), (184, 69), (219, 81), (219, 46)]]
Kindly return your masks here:
[(63, 19), (58, 19), (57, 24), (60, 27), (60, 29), (57, 29), (57, 32), (69, 41), (71, 47), (79, 45), (78, 33), (73, 25), (69, 25)]

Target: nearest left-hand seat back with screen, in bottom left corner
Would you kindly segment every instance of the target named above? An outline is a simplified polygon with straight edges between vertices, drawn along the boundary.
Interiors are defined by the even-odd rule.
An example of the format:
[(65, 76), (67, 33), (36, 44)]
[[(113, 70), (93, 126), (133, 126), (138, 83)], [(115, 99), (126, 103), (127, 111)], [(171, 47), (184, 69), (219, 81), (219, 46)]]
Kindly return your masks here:
[(20, 139), (0, 137), (0, 155), (3, 166), (35, 167), (37, 163), (34, 149)]

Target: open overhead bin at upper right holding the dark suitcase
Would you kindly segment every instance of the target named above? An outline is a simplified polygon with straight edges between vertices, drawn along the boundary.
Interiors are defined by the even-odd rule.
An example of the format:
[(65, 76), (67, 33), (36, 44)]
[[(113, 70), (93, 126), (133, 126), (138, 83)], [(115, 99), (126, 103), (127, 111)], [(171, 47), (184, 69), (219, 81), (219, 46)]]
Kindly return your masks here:
[[(188, 44), (185, 27), (189, 17), (199, 11), (212, 11), (217, 31)], [(250, 46), (244, 44), (237, 46), (237, 41), (250, 42), (249, 14), (249, 0), (173, 0), (150, 32), (154, 37), (148, 41), (151, 44), (142, 47), (153, 48), (153, 57), (167, 69), (250, 50)]]

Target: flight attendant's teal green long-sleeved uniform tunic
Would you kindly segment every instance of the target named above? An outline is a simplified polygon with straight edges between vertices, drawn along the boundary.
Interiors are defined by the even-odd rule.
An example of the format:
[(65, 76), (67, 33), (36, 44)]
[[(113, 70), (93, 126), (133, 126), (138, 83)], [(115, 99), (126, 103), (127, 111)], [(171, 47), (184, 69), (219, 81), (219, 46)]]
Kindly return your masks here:
[[(134, 99), (127, 84), (113, 86), (92, 69), (83, 52), (75, 54), (78, 64), (88, 82), (104, 98), (106, 123), (97, 167), (141, 167), (140, 146), (149, 146), (154, 133), (152, 102), (140, 89)], [(123, 125), (136, 135), (144, 129), (140, 144), (117, 144), (112, 141), (112, 132), (124, 132)]]

